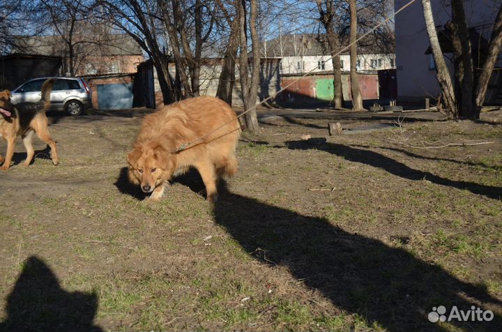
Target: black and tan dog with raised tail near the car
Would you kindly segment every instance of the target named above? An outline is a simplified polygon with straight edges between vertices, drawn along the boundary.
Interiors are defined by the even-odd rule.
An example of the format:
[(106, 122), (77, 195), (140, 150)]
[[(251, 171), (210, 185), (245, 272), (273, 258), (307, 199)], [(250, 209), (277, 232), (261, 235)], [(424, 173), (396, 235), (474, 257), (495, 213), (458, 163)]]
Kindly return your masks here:
[(10, 162), (14, 154), (15, 139), (21, 136), (24, 147), (26, 148), (26, 160), (23, 165), (28, 166), (33, 159), (33, 133), (36, 133), (40, 139), (51, 148), (52, 163), (57, 165), (59, 159), (56, 151), (56, 142), (50, 137), (49, 120), (45, 116), (45, 111), (50, 106), (50, 93), (55, 78), (46, 80), (42, 86), (42, 98), (38, 103), (19, 103), (13, 105), (10, 103), (10, 91), (0, 92), (0, 137), (7, 141), (6, 157), (0, 156), (0, 163), (3, 165), (0, 169), (6, 170), (10, 167)]

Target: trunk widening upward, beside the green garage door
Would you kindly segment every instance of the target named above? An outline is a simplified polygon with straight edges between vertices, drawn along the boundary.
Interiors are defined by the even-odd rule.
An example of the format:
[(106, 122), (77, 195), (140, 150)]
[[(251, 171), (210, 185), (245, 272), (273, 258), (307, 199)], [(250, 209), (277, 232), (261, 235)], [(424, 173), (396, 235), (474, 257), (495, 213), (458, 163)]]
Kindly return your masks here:
[(333, 104), (335, 108), (343, 108), (343, 93), (342, 93), (342, 66), (340, 63), (340, 40), (335, 32), (335, 17), (337, 11), (336, 0), (316, 0), (317, 8), (319, 10), (319, 20), (326, 31), (328, 38), (328, 45), (330, 47), (330, 54), (332, 56), (331, 62), (333, 63)]

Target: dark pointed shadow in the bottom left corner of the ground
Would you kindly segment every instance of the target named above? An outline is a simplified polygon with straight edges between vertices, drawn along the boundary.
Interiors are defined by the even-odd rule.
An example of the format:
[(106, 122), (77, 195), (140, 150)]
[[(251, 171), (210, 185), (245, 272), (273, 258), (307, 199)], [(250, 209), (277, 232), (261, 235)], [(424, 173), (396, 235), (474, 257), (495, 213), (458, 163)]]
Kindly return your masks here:
[(66, 292), (50, 267), (29, 257), (7, 298), (0, 331), (102, 331), (93, 325), (98, 309), (94, 293)]

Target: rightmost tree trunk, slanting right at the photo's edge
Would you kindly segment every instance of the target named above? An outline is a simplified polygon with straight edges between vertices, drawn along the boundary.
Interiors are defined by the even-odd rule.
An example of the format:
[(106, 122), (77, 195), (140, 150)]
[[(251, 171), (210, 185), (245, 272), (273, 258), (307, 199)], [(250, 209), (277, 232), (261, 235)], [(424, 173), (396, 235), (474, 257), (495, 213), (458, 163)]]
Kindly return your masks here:
[(497, 57), (502, 51), (502, 5), (499, 13), (496, 15), (494, 29), (490, 37), (487, 56), (485, 61), (480, 61), (481, 71), (476, 84), (476, 116), (479, 118), (481, 107), (485, 102), (485, 96), (488, 89), (488, 82), (492, 76)]

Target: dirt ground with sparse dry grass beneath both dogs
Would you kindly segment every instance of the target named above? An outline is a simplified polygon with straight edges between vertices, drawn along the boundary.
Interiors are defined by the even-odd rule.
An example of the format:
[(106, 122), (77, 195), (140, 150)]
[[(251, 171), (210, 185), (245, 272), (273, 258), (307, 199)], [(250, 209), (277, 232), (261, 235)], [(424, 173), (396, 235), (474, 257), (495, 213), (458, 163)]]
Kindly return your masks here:
[[(1, 331), (502, 326), (500, 123), (343, 119), (350, 135), (328, 136), (330, 116), (261, 116), (213, 206), (195, 172), (158, 203), (130, 186), (141, 120), (53, 117), (58, 166), (35, 139), (22, 167), (17, 142), (0, 173)], [(493, 319), (429, 322), (440, 305)]]

